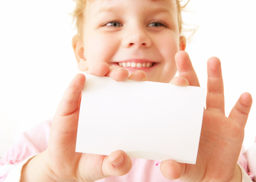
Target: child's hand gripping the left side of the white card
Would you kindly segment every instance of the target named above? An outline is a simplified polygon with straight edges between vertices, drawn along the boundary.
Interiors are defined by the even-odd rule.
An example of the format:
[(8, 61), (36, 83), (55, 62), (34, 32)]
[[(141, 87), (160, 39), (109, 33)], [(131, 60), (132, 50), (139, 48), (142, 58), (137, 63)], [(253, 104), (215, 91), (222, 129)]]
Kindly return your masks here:
[[(118, 66), (109, 68), (107, 63), (100, 63), (87, 73), (109, 76), (116, 81), (146, 80), (143, 71), (135, 71), (129, 76), (127, 70)], [(53, 119), (48, 149), (24, 165), (21, 181), (95, 181), (130, 171), (132, 162), (124, 151), (115, 151), (109, 156), (75, 152), (85, 81), (85, 76), (78, 74), (69, 84)]]

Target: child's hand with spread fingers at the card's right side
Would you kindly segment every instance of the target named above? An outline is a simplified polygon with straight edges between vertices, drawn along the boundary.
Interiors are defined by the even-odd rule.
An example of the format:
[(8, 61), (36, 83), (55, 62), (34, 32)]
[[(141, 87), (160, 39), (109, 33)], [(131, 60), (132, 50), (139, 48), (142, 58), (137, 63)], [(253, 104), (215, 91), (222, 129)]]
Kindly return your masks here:
[[(177, 53), (176, 64), (181, 77), (174, 78), (173, 84), (186, 86), (189, 83), (200, 87), (186, 52)], [(161, 163), (161, 172), (168, 179), (183, 181), (241, 181), (237, 161), (252, 98), (249, 93), (243, 93), (226, 117), (222, 68), (218, 58), (208, 59), (207, 73), (206, 108), (196, 164), (167, 160)]]

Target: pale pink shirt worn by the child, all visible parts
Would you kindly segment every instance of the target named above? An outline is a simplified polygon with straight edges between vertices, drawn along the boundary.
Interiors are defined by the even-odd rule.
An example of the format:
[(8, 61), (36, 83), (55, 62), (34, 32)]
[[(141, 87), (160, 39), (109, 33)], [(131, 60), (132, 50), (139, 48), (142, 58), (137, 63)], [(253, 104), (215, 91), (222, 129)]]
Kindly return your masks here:
[[(7, 176), (15, 167), (19, 164), (20, 167), (16, 169), (17, 178), (20, 176), (22, 165), (26, 163), (28, 157), (41, 153), (48, 147), (48, 139), (50, 134), (52, 119), (45, 120), (36, 127), (30, 129), (21, 135), (19, 142), (13, 147), (9, 148), (0, 160), (0, 182), (5, 181)], [(253, 145), (249, 151), (243, 152), (242, 149), (238, 163), (253, 179), (256, 174), (256, 144)], [(22, 162), (23, 161), (23, 162)], [(248, 165), (249, 161), (249, 165)], [(131, 171), (120, 177), (108, 177), (98, 180), (99, 182), (107, 181), (181, 181), (181, 180), (168, 180), (162, 176), (160, 172), (159, 161), (144, 160), (144, 159), (132, 159), (133, 166)], [(249, 167), (248, 167), (249, 166)], [(250, 170), (249, 170), (250, 169)], [(250, 172), (249, 172), (250, 171)], [(246, 173), (242, 170), (243, 177), (248, 178)], [(12, 173), (14, 174), (14, 173)], [(255, 179), (255, 178), (254, 178)], [(255, 179), (256, 180), (256, 179)], [(19, 180), (17, 180), (19, 181)], [(248, 181), (248, 180), (243, 180)]]

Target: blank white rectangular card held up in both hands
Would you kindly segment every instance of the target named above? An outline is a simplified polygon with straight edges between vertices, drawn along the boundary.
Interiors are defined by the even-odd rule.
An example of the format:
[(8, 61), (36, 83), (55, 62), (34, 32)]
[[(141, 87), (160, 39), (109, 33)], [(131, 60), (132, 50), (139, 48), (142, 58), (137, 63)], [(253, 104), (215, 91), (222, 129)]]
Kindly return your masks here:
[(205, 89), (86, 75), (76, 152), (195, 164)]

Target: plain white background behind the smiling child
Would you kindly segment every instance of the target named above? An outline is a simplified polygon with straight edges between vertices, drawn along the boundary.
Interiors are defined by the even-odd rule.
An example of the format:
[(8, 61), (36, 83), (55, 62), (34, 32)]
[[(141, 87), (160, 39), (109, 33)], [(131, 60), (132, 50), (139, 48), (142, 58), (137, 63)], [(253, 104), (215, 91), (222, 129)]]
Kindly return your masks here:
[[(76, 33), (71, 0), (0, 1), (0, 156), (20, 132), (52, 117), (76, 73), (71, 40)], [(206, 62), (222, 61), (226, 115), (240, 94), (256, 95), (255, 0), (190, 1), (188, 28), (198, 28), (187, 52), (206, 87)], [(256, 136), (256, 107), (246, 126), (245, 147)]]

